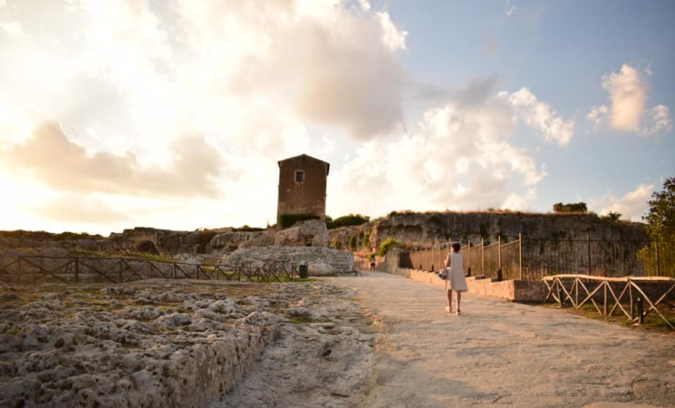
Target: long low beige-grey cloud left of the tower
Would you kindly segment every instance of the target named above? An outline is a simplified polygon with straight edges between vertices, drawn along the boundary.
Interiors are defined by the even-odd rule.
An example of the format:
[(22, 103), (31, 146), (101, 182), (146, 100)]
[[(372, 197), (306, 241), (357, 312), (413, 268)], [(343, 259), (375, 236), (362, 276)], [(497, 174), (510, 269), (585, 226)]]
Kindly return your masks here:
[(122, 156), (88, 152), (70, 141), (58, 122), (48, 121), (35, 128), (31, 138), (0, 151), (0, 166), (60, 191), (206, 197), (217, 194), (213, 184), (221, 171), (217, 151), (198, 136), (176, 141), (172, 151), (169, 167), (145, 167), (129, 152)]

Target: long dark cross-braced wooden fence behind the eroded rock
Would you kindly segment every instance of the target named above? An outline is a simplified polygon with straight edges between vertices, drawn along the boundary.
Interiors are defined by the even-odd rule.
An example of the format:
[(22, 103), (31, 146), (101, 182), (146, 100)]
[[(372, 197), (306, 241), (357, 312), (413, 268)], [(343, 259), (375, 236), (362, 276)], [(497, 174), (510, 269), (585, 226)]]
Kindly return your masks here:
[(0, 250), (0, 281), (120, 284), (153, 277), (269, 283), (300, 277), (300, 271), (297, 265), (281, 262), (204, 265), (127, 257), (50, 257)]

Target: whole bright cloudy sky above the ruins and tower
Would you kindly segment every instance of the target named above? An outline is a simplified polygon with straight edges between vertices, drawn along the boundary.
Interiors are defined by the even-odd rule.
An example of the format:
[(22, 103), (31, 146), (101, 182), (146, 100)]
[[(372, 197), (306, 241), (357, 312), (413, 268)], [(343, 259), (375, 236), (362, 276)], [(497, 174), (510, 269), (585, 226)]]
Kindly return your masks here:
[(0, 0), (0, 230), (326, 212), (641, 221), (675, 175), (671, 0)]

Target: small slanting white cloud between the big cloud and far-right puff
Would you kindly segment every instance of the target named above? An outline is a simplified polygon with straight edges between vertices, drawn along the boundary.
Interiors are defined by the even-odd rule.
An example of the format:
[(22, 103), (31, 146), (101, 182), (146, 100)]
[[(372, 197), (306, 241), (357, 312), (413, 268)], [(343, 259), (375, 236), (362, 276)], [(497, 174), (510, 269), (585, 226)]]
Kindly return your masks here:
[(574, 121), (564, 121), (551, 105), (539, 102), (534, 93), (527, 88), (509, 94), (499, 92), (499, 97), (510, 102), (516, 110), (516, 121), (544, 134), (546, 141), (554, 141), (559, 145), (568, 144), (574, 136)]

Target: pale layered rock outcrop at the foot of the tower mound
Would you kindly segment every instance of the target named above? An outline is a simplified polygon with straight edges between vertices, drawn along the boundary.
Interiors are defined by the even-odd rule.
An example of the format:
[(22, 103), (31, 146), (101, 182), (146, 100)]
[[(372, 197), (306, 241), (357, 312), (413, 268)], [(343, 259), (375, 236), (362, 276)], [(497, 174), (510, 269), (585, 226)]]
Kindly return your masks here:
[(263, 267), (267, 263), (304, 263), (311, 276), (326, 276), (352, 273), (354, 257), (352, 252), (323, 247), (256, 247), (241, 248), (223, 257), (229, 265), (250, 265)]

